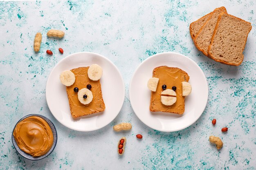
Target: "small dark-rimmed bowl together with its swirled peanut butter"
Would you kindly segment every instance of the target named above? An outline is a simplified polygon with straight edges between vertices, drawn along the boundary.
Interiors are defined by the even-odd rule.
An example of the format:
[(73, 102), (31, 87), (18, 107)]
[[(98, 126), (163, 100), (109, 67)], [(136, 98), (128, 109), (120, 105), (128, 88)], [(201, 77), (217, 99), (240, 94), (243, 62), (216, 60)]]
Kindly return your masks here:
[(15, 125), (12, 143), (17, 152), (30, 160), (40, 160), (52, 153), (57, 144), (57, 131), (47, 117), (27, 115)]

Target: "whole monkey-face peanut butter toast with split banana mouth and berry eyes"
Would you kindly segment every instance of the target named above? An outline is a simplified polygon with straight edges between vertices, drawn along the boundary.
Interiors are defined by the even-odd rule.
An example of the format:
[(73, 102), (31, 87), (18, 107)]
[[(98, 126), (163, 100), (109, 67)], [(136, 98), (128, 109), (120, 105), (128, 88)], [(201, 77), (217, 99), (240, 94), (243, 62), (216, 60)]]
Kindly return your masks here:
[[(153, 78), (158, 78), (156, 89), (151, 91), (150, 111), (183, 114), (185, 96), (191, 93), (189, 75), (180, 68), (159, 66), (153, 70)], [(150, 80), (149, 80), (150, 82)], [(150, 84), (148, 82), (148, 84)], [(190, 86), (189, 93), (184, 88)], [(170, 92), (170, 93), (169, 93)]]

